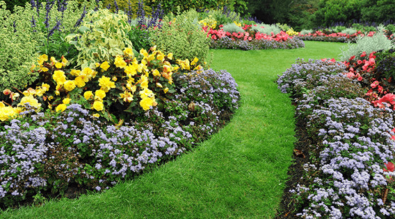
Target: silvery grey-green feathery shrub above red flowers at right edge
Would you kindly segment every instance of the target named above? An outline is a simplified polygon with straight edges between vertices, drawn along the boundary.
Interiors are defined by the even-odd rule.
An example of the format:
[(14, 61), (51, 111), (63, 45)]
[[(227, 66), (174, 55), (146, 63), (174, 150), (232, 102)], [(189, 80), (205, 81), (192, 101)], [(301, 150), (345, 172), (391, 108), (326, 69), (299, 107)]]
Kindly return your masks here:
[(353, 55), (360, 56), (363, 52), (367, 54), (373, 51), (388, 50), (394, 48), (394, 42), (388, 40), (384, 35), (383, 26), (378, 27), (378, 32), (372, 37), (358, 37), (356, 44), (348, 44), (347, 48), (341, 49), (341, 60), (348, 60)]

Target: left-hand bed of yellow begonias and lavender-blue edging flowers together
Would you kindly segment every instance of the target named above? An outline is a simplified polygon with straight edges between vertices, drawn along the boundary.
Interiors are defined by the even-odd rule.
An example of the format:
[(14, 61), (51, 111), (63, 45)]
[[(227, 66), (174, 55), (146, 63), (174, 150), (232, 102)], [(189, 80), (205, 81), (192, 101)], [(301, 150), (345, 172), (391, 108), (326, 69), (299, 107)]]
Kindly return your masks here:
[[(125, 50), (95, 71), (63, 69), (42, 55), (36, 89), (22, 98), (4, 92), (14, 98), (0, 103), (1, 207), (72, 188), (108, 189), (195, 146), (237, 108), (227, 71), (187, 71), (188, 60), (170, 65), (169, 55), (141, 53), (145, 65)], [(147, 71), (154, 63), (165, 65)], [(113, 78), (100, 76), (107, 71)]]

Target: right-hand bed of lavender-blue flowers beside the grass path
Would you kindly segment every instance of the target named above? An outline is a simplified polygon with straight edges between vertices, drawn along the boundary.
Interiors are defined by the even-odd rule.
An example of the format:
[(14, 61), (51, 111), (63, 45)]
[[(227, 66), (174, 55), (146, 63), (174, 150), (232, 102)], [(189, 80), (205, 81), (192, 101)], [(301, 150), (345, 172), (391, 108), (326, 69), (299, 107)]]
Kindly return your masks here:
[(293, 216), (395, 216), (394, 112), (366, 100), (363, 84), (350, 80), (346, 68), (334, 60), (299, 61), (277, 80), (294, 98), (309, 140), (303, 177), (289, 188), (298, 203)]

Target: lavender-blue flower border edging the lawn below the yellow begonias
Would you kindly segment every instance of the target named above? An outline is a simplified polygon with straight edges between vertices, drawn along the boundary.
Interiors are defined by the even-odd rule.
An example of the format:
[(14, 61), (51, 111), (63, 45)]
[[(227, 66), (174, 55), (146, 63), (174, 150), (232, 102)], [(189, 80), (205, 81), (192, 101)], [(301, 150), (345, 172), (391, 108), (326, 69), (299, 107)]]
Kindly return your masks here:
[(0, 207), (72, 184), (108, 189), (192, 148), (237, 108), (239, 91), (227, 71), (193, 71), (175, 83), (167, 107), (118, 125), (78, 104), (58, 114), (22, 112), (0, 132)]

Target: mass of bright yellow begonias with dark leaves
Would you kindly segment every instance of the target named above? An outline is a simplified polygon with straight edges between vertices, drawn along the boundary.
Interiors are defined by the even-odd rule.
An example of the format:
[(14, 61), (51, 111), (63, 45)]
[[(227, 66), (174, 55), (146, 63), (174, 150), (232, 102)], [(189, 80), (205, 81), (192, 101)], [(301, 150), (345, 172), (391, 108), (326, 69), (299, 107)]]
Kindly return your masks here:
[[(42, 73), (44, 82), (35, 89), (29, 87), (23, 91), (22, 98), (18, 98), (19, 94), (14, 94), (9, 89), (3, 91), (4, 94), (10, 95), (12, 100), (19, 100), (19, 103), (17, 107), (0, 103), (0, 121), (15, 118), (24, 110), (26, 103), (39, 110), (42, 103), (38, 99), (46, 101), (49, 109), (54, 105), (56, 112), (63, 112), (72, 98), (76, 98), (76, 103), (79, 103), (83, 100), (81, 99), (83, 96), (85, 99), (83, 101), (88, 102), (85, 106), (88, 108), (90, 105), (90, 109), (95, 110), (95, 114), (92, 115), (96, 117), (108, 114), (104, 109), (112, 101), (119, 101), (126, 106), (134, 106), (131, 103), (136, 101), (135, 103), (138, 103), (143, 110), (148, 110), (158, 104), (156, 96), (167, 94), (169, 88), (174, 86), (172, 75), (175, 71), (202, 70), (202, 67), (197, 65), (198, 58), (191, 62), (189, 60), (174, 62), (172, 53), (165, 55), (161, 51), (156, 51), (156, 46), (150, 51), (141, 49), (141, 60), (134, 57), (131, 48), (126, 48), (123, 52), (124, 55), (117, 55), (113, 62), (96, 63), (96, 69), (86, 67), (81, 70), (63, 69), (67, 64), (67, 60), (63, 57), (61, 60), (56, 60), (49, 59), (47, 55), (40, 55), (38, 68), (33, 67), (33, 69)], [(93, 80), (97, 74), (99, 77)], [(79, 89), (76, 89), (77, 87)]]

